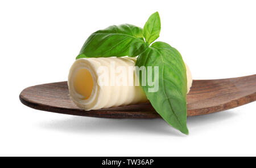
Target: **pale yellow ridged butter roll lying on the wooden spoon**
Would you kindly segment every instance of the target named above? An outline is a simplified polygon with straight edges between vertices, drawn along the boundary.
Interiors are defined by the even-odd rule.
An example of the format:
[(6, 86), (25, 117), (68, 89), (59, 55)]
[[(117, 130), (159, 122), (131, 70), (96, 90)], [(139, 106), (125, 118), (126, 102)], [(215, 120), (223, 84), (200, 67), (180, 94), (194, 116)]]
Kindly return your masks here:
[[(129, 70), (130, 67), (135, 66), (135, 62), (136, 58), (130, 57), (77, 59), (73, 63), (68, 76), (69, 94), (73, 102), (84, 110), (97, 110), (147, 102), (146, 94), (141, 86), (130, 85), (130, 80), (122, 80), (122, 84), (117, 84), (116, 80), (118, 80), (120, 73), (112, 73), (114, 63), (115, 67), (122, 67), (127, 70), (122, 73), (122, 79), (129, 79), (130, 76), (133, 76), (134, 80), (135, 71)], [(192, 76), (187, 65), (186, 68), (189, 92), (192, 85)], [(131, 74), (129, 74), (130, 72)], [(107, 74), (104, 80), (108, 81), (109, 85), (100, 84), (102, 73)]]

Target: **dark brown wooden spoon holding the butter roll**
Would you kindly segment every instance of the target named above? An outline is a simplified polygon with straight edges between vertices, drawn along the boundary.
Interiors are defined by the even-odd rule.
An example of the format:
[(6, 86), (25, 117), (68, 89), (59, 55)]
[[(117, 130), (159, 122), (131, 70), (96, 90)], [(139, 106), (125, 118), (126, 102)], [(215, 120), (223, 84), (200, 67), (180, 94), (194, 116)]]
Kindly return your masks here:
[[(159, 118), (147, 104), (84, 111), (69, 97), (67, 81), (36, 85), (20, 93), (20, 101), (38, 110), (101, 118)], [(232, 109), (256, 100), (256, 75), (216, 80), (193, 80), (187, 96), (188, 117)]]

